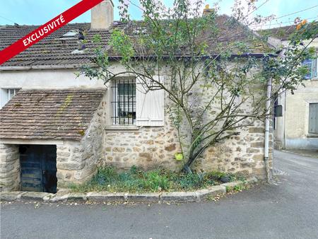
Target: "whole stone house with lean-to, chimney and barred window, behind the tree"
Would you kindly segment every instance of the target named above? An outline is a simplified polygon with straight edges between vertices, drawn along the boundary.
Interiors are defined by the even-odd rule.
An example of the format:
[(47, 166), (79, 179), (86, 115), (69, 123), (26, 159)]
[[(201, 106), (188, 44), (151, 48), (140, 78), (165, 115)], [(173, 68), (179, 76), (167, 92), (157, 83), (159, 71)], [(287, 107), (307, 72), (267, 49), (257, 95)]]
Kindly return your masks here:
[[(92, 23), (66, 25), (0, 66), (1, 190), (57, 192), (88, 180), (99, 165), (182, 166), (175, 161), (179, 146), (163, 91), (136, 91), (134, 77), (106, 88), (102, 81), (75, 76), (94, 56), (89, 49), (96, 33), (107, 45), (110, 30), (126, 27), (107, 14), (112, 12), (112, 1), (103, 1), (93, 8)], [(220, 23), (226, 18), (220, 16)], [(1, 49), (35, 28), (1, 26)], [(87, 32), (86, 49), (78, 45), (81, 31)], [(237, 27), (225, 43), (245, 32)], [(248, 54), (263, 52), (255, 47)], [(240, 136), (209, 148), (197, 167), (264, 178), (264, 131), (264, 122), (255, 120)]]

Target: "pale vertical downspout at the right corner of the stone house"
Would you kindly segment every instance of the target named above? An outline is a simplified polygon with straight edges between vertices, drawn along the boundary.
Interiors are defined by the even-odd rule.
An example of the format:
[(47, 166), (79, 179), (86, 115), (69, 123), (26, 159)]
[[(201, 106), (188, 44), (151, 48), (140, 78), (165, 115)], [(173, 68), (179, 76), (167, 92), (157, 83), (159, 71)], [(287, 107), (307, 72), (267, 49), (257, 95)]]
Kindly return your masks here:
[(266, 91), (266, 119), (265, 119), (265, 145), (264, 145), (264, 164), (266, 170), (266, 182), (270, 182), (269, 173), (269, 119), (271, 117), (271, 78), (267, 81)]

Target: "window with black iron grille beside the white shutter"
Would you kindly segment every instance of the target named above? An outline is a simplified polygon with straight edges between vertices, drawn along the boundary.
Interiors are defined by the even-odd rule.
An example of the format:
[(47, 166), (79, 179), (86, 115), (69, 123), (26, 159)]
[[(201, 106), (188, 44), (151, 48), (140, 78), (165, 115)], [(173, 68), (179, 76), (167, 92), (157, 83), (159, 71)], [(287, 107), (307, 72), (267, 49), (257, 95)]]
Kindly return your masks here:
[(112, 83), (113, 124), (136, 124), (136, 80), (117, 79)]

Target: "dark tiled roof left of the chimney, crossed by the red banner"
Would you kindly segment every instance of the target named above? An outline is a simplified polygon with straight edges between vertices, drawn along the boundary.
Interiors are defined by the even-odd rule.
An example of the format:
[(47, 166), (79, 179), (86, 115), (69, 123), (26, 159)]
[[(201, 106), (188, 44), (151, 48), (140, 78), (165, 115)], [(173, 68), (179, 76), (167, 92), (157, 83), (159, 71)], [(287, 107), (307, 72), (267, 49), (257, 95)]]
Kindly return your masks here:
[[(0, 27), (0, 50), (8, 47), (13, 42), (20, 40), (28, 33), (32, 32), (39, 26), (37, 25), (6, 25)], [(124, 28), (124, 24), (118, 23), (114, 28)], [(69, 33), (71, 30), (87, 31), (86, 47), (88, 50), (83, 54), (72, 54), (78, 49), (78, 39), (66, 40), (64, 44), (59, 37)], [(37, 44), (29, 47), (16, 57), (1, 66), (48, 66), (48, 65), (76, 65), (90, 63), (90, 57), (93, 57), (93, 36), (99, 34), (102, 36), (102, 43), (107, 45), (110, 39), (110, 31), (90, 31), (90, 23), (73, 23), (65, 25), (51, 35), (45, 37)]]

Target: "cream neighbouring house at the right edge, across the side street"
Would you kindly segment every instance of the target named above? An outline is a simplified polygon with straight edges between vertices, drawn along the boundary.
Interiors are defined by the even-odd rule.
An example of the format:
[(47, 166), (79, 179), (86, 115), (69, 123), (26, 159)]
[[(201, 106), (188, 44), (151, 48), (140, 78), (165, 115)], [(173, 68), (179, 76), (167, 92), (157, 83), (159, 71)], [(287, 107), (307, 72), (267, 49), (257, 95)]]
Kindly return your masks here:
[[(266, 30), (270, 41), (276, 46), (288, 44), (288, 37), (295, 32), (295, 25)], [(314, 39), (310, 47), (318, 53), (318, 39)], [(286, 92), (278, 96), (275, 104), (282, 106), (283, 114), (273, 120), (273, 134), (277, 148), (318, 149), (318, 77), (317, 58), (307, 59), (310, 72), (292, 93)]]

